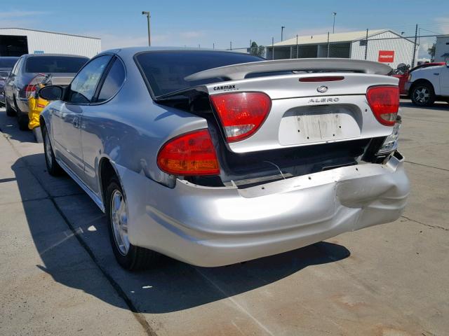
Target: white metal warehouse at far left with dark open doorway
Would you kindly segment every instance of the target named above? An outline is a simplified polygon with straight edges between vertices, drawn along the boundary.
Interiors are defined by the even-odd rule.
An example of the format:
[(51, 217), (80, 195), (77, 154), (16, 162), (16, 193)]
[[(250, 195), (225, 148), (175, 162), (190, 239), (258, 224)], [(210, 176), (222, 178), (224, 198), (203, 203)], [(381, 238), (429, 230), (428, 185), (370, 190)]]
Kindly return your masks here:
[(72, 54), (93, 57), (101, 39), (22, 28), (0, 28), (0, 56), (23, 54)]

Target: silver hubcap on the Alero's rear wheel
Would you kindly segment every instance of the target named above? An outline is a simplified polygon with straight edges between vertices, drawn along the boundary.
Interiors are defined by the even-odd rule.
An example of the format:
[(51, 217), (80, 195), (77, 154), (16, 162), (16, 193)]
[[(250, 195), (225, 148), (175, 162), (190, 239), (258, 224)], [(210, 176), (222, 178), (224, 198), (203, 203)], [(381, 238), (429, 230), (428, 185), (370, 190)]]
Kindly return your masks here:
[(121, 254), (129, 251), (128, 239), (128, 214), (126, 202), (119, 190), (114, 190), (111, 195), (111, 223), (114, 232), (114, 241)]

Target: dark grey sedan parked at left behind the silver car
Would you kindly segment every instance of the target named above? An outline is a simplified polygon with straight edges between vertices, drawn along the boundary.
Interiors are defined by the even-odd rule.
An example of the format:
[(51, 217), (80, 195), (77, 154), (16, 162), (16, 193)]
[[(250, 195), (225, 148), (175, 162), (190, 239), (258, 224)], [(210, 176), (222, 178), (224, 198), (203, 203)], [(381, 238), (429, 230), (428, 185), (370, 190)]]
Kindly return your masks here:
[(28, 97), (36, 90), (32, 80), (39, 74), (70, 80), (88, 61), (77, 55), (22, 55), (4, 85), (6, 114), (17, 116), (20, 130), (28, 130)]

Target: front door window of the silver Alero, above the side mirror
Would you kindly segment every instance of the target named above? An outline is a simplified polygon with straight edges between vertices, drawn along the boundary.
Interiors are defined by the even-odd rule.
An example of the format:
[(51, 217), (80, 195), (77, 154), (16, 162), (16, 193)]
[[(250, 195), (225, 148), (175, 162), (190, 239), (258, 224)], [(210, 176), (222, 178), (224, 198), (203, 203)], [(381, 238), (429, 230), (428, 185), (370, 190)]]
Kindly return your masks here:
[(111, 57), (111, 55), (97, 57), (79, 71), (70, 84), (67, 102), (88, 104), (92, 101), (98, 82)]

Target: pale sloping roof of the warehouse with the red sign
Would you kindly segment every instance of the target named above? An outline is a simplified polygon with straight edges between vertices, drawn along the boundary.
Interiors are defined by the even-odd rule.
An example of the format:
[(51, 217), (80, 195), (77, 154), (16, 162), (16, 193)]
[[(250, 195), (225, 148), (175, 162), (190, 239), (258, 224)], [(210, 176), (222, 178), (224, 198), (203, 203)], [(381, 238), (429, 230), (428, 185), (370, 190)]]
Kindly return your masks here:
[[(387, 31), (390, 31), (393, 34), (396, 34), (398, 36), (401, 36), (394, 31), (391, 31), (390, 29), (374, 29), (368, 31), (368, 37), (372, 37), (378, 34), (385, 33)], [(329, 34), (329, 42), (335, 43), (335, 42), (352, 42), (352, 41), (358, 41), (366, 38), (366, 30), (361, 31), (347, 31), (345, 33), (335, 33), (335, 34)], [(407, 38), (405, 38), (407, 39)], [(410, 41), (410, 40), (408, 40)], [(328, 43), (328, 34), (317, 34), (317, 35), (306, 35), (306, 36), (298, 36), (297, 38), (298, 44), (317, 44), (317, 43)], [(274, 46), (281, 46), (281, 45), (296, 45), (296, 37), (289, 38), (288, 40), (284, 40), (278, 43), (274, 43)], [(271, 45), (267, 45), (269, 48)]]

